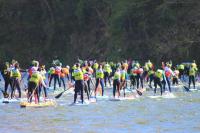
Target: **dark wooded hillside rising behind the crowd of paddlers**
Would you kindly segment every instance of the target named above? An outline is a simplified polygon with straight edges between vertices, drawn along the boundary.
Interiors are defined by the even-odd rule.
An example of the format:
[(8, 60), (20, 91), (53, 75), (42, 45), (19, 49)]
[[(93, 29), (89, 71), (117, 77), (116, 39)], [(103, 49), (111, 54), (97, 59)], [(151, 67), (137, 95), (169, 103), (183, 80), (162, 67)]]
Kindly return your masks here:
[(0, 0), (0, 60), (200, 62), (199, 0)]

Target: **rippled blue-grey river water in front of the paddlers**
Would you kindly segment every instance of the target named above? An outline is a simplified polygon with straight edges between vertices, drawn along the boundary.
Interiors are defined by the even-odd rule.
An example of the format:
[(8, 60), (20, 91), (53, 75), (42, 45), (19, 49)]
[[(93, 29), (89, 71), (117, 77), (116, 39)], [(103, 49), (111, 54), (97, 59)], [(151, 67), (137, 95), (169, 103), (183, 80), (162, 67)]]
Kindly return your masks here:
[[(69, 106), (73, 95), (67, 94), (55, 107), (1, 103), (0, 133), (199, 133), (200, 91), (173, 91), (176, 98), (152, 99), (152, 91), (147, 91), (136, 100), (99, 100), (88, 106)], [(108, 88), (105, 94), (111, 92)]]

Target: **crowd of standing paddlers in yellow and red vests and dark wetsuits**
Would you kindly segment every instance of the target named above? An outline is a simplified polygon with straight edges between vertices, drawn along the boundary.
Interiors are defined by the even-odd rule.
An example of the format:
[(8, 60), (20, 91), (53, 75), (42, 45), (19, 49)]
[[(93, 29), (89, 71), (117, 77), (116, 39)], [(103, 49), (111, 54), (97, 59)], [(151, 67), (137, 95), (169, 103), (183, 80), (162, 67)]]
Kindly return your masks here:
[[(47, 98), (47, 89), (53, 83), (53, 90), (56, 90), (57, 86), (62, 87), (63, 91), (73, 87), (74, 103), (76, 103), (78, 95), (81, 96), (82, 102), (84, 101), (84, 92), (86, 92), (88, 99), (92, 94), (95, 98), (97, 92), (103, 96), (105, 87), (113, 88), (113, 98), (120, 97), (121, 90), (123, 90), (122, 96), (125, 97), (127, 85), (141, 93), (140, 89), (144, 88), (144, 83), (152, 88), (154, 93), (159, 86), (162, 95), (166, 89), (169, 92), (172, 91), (171, 84), (188, 82), (187, 88), (189, 90), (191, 83), (195, 88), (195, 82), (198, 80), (198, 69), (195, 61), (178, 65), (172, 64), (172, 61), (162, 62), (159, 68), (156, 68), (150, 60), (143, 65), (134, 60), (124, 60), (117, 63), (78, 60), (71, 67), (63, 65), (59, 60), (53, 60), (51, 64), (48, 71), (44, 64), (40, 64), (36, 60), (31, 62), (28, 69), (21, 69), (16, 60), (1, 64), (1, 75), (4, 79), (4, 89), (1, 89), (3, 96), (11, 99), (21, 98), (22, 91), (25, 91), (29, 102), (32, 102), (34, 96), (37, 99), (36, 102), (39, 103), (41, 91)], [(26, 81), (25, 77), (27, 82), (24, 82)], [(185, 82), (186, 79), (188, 79), (187, 82)], [(26, 84), (24, 88), (21, 88), (22, 84)], [(9, 87), (11, 91), (8, 93)], [(15, 90), (18, 91), (17, 95)]]

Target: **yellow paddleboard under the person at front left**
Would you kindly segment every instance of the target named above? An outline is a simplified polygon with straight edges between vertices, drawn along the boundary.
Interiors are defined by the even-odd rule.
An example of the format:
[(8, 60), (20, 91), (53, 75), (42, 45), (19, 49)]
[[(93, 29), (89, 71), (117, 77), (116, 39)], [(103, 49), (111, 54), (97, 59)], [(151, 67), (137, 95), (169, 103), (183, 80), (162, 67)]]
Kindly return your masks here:
[(49, 106), (55, 106), (56, 102), (53, 100), (49, 100), (46, 102), (40, 102), (38, 104), (32, 102), (20, 102), (20, 107), (49, 107)]

